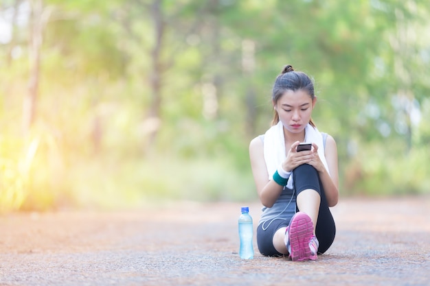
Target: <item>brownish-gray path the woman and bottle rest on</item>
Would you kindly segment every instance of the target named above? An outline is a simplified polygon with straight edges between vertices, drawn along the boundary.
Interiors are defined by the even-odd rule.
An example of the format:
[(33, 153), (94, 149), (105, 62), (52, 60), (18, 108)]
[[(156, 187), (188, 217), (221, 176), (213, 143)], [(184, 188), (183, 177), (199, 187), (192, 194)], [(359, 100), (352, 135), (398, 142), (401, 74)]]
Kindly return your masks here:
[[(254, 222), (260, 204), (251, 204)], [(0, 285), (430, 285), (430, 198), (342, 200), (317, 261), (238, 258), (240, 204), (0, 216)], [(256, 226), (256, 223), (254, 223)]]

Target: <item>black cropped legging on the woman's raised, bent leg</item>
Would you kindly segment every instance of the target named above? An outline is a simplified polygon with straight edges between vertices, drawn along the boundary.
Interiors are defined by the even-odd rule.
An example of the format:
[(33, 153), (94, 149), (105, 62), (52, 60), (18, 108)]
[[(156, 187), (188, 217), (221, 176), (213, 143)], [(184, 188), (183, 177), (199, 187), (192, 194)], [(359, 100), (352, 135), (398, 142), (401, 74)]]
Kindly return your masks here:
[(315, 235), (319, 241), (318, 252), (324, 253), (335, 240), (336, 226), (328, 208), (326, 193), (324, 193), (324, 187), (319, 180), (318, 171), (308, 164), (303, 164), (293, 170), (293, 178), (297, 195), (306, 189), (313, 189), (321, 196)]

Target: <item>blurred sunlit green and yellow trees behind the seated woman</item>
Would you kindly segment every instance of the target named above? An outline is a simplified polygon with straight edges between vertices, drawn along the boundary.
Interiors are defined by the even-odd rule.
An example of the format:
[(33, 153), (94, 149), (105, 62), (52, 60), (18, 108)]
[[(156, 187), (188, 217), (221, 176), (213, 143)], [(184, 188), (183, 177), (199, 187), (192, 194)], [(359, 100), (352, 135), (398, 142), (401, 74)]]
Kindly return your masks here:
[(0, 0), (0, 212), (258, 200), (292, 64), (341, 196), (430, 193), (427, 0)]

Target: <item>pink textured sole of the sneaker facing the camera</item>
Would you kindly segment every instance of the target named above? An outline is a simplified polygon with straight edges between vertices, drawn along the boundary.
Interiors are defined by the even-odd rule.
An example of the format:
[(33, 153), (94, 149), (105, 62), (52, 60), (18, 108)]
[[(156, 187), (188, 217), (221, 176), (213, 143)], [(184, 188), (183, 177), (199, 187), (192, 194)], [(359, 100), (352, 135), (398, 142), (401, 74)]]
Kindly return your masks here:
[(315, 260), (309, 248), (313, 237), (313, 223), (306, 213), (296, 213), (288, 226), (291, 253), (293, 261)]

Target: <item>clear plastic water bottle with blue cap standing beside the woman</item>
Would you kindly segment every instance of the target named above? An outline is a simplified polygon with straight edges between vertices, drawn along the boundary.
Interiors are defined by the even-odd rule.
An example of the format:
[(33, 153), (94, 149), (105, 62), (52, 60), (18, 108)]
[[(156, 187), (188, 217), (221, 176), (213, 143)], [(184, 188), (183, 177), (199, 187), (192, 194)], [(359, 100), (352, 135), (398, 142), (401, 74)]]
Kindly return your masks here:
[(249, 207), (242, 206), (242, 214), (239, 217), (240, 259), (253, 259), (252, 246), (253, 226), (252, 217), (249, 215)]

